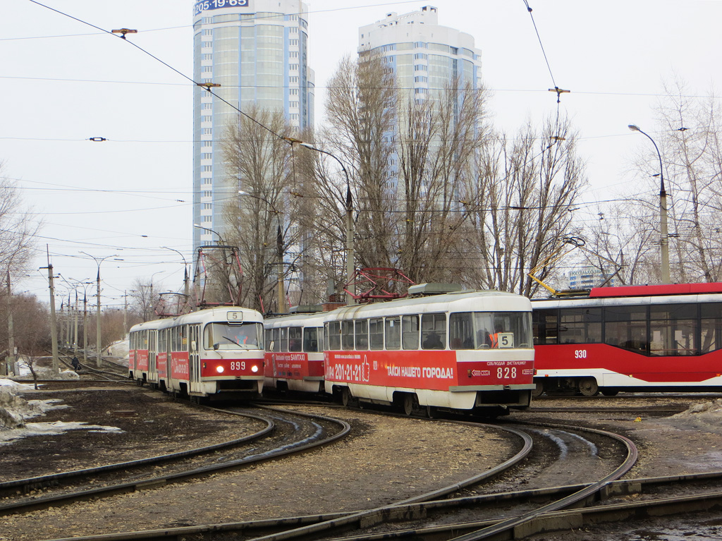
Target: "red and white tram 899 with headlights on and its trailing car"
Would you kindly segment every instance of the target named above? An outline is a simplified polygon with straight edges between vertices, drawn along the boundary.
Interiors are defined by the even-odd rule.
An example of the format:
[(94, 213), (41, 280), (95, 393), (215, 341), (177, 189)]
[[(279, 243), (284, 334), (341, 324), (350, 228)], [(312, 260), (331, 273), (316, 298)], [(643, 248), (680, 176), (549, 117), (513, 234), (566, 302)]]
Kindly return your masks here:
[(263, 390), (263, 316), (255, 310), (225, 306), (149, 321), (131, 329), (130, 342), (129, 376), (140, 383), (191, 398), (248, 399)]

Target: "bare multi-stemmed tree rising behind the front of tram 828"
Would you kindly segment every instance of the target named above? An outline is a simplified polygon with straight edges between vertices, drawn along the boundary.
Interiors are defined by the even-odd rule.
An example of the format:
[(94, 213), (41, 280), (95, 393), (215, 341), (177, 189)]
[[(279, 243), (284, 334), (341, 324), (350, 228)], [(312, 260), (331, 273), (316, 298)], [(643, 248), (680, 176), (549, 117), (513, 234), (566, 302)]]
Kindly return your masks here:
[[(570, 210), (586, 183), (576, 152), (578, 135), (564, 118), (550, 118), (541, 132), (528, 124), (513, 142), (498, 136), (479, 159), (469, 183), (468, 272), (483, 287), (532, 296), (539, 284), (529, 270), (578, 233)], [(537, 277), (553, 278), (556, 264)]]

